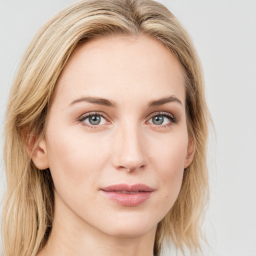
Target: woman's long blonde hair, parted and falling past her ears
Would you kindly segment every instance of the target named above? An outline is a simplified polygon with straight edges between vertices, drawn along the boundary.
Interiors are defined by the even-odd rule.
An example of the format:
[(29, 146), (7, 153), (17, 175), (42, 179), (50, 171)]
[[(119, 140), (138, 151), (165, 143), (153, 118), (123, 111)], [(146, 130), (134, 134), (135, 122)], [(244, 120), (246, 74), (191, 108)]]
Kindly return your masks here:
[[(173, 207), (158, 223), (154, 252), (166, 238), (183, 250), (200, 248), (200, 217), (207, 199), (206, 140), (209, 115), (200, 62), (187, 32), (173, 14), (152, 0), (82, 0), (56, 14), (28, 46), (7, 106), (4, 161), (7, 190), (2, 237), (6, 256), (35, 256), (45, 245), (54, 213), (49, 170), (37, 169), (26, 145), (44, 136), (44, 122), (58, 76), (78, 43), (108, 35), (145, 34), (161, 41), (185, 77), (186, 119), (195, 143)], [(36, 144), (36, 143), (35, 143)]]

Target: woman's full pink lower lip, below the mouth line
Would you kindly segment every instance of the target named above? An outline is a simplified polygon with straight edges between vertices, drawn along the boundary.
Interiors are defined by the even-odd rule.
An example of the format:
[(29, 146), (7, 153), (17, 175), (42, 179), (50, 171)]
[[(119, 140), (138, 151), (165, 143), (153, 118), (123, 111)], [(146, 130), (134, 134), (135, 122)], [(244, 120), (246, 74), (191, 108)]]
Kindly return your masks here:
[(153, 191), (142, 191), (135, 194), (124, 194), (115, 191), (101, 190), (111, 200), (125, 206), (136, 206), (147, 200)]

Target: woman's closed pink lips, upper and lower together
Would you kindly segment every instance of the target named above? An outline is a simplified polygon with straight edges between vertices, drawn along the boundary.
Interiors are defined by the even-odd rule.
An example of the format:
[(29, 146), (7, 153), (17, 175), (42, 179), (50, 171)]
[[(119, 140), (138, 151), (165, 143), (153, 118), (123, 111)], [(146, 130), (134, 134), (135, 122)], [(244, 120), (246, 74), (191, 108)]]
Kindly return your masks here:
[(124, 205), (136, 206), (147, 200), (154, 189), (145, 184), (116, 184), (100, 189), (109, 199)]

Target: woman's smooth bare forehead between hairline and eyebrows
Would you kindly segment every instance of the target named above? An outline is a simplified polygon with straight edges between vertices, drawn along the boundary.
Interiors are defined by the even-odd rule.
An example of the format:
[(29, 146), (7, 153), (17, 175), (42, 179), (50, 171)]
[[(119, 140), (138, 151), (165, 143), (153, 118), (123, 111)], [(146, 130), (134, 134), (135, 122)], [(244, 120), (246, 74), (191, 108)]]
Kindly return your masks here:
[(115, 101), (123, 95), (175, 95), (184, 102), (185, 93), (182, 68), (160, 41), (146, 36), (111, 36), (75, 48), (58, 78), (54, 94), (91, 94)]

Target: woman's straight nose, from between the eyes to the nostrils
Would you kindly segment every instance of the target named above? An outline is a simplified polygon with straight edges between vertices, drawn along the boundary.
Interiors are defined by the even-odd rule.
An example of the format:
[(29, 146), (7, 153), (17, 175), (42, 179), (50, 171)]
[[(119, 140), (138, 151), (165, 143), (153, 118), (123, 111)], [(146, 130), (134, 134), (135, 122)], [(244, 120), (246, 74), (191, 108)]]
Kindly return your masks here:
[(147, 165), (146, 143), (139, 127), (123, 125), (113, 140), (112, 165), (116, 169), (135, 171)]

